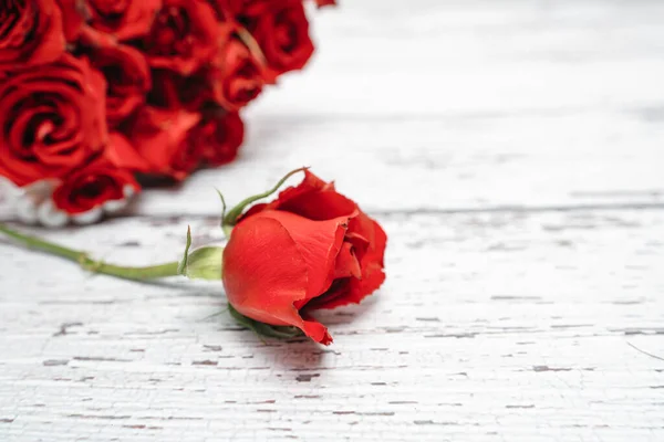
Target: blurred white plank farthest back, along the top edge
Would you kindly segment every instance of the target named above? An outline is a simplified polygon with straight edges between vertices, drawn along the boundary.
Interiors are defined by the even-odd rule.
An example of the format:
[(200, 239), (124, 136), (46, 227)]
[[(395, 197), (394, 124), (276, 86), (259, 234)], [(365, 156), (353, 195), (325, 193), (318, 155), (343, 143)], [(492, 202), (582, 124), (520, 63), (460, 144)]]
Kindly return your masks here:
[(347, 1), (258, 113), (406, 116), (662, 107), (660, 1)]

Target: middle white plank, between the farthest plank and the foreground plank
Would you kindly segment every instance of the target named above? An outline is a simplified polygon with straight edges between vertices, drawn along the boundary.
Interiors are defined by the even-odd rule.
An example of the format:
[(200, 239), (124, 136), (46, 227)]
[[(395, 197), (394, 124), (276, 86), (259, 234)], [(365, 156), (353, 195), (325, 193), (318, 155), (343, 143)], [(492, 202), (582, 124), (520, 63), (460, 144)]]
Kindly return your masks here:
[(239, 201), (304, 165), (380, 212), (664, 202), (664, 125), (637, 117), (253, 123), (237, 162), (149, 190), (134, 213), (218, 213), (215, 188)]

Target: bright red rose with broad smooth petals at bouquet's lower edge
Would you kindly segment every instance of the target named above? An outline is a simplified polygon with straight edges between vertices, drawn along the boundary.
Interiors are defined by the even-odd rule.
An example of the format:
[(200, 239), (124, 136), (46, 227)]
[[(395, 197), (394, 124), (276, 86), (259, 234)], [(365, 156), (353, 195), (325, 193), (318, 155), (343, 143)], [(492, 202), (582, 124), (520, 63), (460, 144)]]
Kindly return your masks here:
[(149, 165), (149, 173), (184, 180), (201, 160), (201, 146), (188, 143), (189, 130), (200, 114), (184, 109), (141, 109), (129, 130), (138, 154)]

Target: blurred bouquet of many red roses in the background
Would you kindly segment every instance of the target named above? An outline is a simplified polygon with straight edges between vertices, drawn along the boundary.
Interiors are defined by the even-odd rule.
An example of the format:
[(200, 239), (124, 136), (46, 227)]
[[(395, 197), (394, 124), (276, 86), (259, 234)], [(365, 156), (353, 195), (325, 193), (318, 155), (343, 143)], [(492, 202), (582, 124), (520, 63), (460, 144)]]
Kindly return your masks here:
[(303, 0), (0, 0), (0, 176), (75, 214), (224, 165), (312, 52)]

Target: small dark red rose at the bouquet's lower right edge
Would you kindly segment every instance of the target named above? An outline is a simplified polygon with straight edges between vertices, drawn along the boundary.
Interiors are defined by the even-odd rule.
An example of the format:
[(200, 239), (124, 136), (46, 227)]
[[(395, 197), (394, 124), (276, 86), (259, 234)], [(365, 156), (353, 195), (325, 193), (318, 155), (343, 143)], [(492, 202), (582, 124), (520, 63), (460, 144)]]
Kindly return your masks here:
[(210, 166), (232, 161), (243, 139), (245, 124), (237, 112), (208, 117), (189, 135), (189, 143), (199, 146), (203, 159)]

